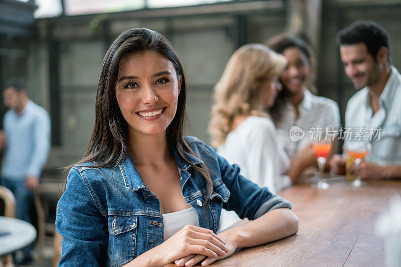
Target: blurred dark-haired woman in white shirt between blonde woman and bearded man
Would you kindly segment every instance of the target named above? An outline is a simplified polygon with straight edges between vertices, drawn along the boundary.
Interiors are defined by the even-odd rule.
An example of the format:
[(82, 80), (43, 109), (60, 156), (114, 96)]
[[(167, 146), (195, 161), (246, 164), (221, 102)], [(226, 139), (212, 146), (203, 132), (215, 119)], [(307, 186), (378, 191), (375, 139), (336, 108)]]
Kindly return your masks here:
[[(311, 90), (316, 91), (312, 78), (314, 57), (306, 42), (296, 36), (282, 34), (269, 40), (267, 46), (283, 54), (288, 61), (286, 69), (280, 75), (283, 89), (274, 105), (266, 108), (277, 127), (278, 142), (291, 158), (292, 170), (298, 173), (291, 173), (289, 176), (297, 178), (299, 172), (317, 165), (310, 134), (317, 128), (321, 128), (323, 133), (333, 127), (338, 129), (340, 112), (333, 100), (311, 93)], [(305, 137), (299, 141), (290, 138), (290, 129), (294, 125), (305, 131)], [(336, 146), (334, 142), (330, 155), (336, 152)]]

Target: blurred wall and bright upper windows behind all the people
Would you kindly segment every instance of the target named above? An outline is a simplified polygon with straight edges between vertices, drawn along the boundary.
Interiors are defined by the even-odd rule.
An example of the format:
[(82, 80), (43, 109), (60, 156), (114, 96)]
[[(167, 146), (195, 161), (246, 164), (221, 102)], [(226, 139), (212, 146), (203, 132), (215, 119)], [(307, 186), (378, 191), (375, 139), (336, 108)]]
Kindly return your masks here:
[(58, 179), (57, 167), (85, 151), (101, 62), (125, 29), (151, 28), (171, 41), (186, 71), (187, 134), (209, 142), (213, 87), (239, 46), (282, 32), (304, 36), (316, 54), (318, 94), (337, 101), (343, 118), (355, 90), (336, 32), (358, 19), (378, 22), (399, 69), (400, 18), (400, 0), (0, 0), (0, 84), (27, 77), (29, 96), (49, 111), (52, 149), (43, 176)]

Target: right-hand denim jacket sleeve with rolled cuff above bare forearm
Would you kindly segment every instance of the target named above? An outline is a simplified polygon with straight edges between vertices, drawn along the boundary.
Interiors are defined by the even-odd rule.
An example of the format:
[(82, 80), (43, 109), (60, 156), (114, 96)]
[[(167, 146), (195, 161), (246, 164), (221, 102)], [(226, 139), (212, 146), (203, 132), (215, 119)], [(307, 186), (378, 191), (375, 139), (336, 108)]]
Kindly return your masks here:
[(230, 197), (223, 208), (234, 210), (240, 218), (256, 219), (269, 210), (291, 208), (290, 202), (273, 194), (268, 187), (259, 187), (240, 174), (237, 164), (231, 165), (217, 155), (223, 182), (230, 190)]

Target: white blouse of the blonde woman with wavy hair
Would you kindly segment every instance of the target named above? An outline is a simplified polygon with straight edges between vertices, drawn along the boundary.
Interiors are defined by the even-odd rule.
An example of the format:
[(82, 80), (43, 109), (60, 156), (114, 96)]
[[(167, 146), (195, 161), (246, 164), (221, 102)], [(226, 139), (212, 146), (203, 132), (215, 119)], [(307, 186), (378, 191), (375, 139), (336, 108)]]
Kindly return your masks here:
[[(238, 164), (243, 176), (276, 193), (291, 185), (291, 178), (282, 175), (288, 171), (290, 161), (276, 138), (275, 126), (269, 118), (250, 116), (227, 135), (217, 152), (231, 164)], [(234, 211), (222, 210), (219, 229), (239, 219)]]

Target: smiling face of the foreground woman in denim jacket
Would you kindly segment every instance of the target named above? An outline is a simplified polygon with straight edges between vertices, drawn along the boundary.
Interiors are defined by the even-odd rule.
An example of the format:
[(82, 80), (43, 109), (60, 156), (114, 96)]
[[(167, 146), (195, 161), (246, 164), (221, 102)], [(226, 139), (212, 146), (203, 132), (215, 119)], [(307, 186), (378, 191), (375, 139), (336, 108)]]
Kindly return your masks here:
[(128, 134), (165, 134), (177, 110), (181, 80), (160, 53), (129, 53), (121, 59), (115, 95)]

